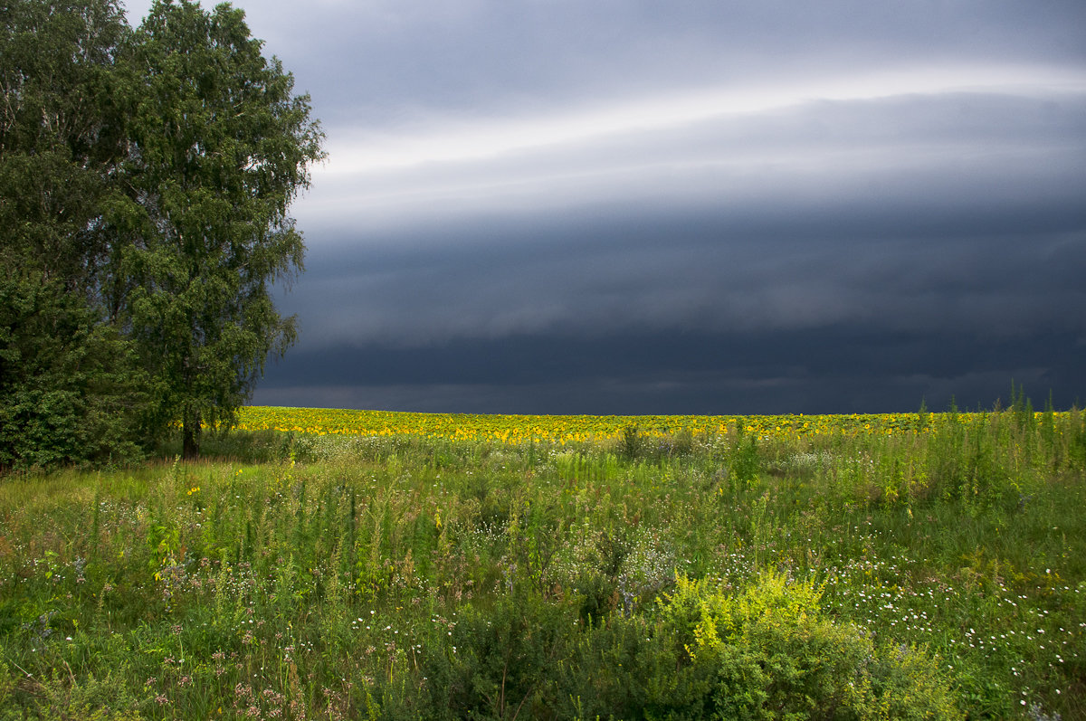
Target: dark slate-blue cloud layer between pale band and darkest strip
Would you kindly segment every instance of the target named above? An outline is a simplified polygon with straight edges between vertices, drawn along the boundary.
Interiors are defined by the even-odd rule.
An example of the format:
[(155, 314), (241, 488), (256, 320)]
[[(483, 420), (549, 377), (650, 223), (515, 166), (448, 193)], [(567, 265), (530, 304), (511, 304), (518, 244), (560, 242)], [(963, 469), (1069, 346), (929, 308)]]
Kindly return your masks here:
[(981, 180), (960, 167), (887, 168), (791, 192), (790, 175), (741, 203), (605, 203), (446, 228), (405, 219), (394, 235), (315, 252), (289, 303), (311, 319), (313, 344), (875, 320), (1081, 331), (1079, 314), (1052, 311), (1084, 300), (1086, 184), (1053, 167)]

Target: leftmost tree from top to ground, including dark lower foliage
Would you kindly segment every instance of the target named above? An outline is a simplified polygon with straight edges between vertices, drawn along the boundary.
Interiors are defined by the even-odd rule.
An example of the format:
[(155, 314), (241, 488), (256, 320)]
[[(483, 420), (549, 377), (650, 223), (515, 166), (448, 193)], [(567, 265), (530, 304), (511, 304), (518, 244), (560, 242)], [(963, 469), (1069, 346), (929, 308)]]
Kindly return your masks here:
[(0, 470), (138, 455), (141, 378), (100, 292), (129, 34), (110, 0), (0, 5)]

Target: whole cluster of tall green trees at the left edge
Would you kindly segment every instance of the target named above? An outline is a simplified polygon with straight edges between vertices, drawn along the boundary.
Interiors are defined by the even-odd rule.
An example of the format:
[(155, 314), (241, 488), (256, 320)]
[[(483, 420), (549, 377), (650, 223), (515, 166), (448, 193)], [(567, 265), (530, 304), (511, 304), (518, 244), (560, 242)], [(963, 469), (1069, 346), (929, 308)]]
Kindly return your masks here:
[(134, 29), (112, 0), (15, 0), (0, 22), (0, 468), (176, 423), (194, 454), (295, 336), (270, 286), (303, 267), (310, 99), (225, 3), (157, 0)]

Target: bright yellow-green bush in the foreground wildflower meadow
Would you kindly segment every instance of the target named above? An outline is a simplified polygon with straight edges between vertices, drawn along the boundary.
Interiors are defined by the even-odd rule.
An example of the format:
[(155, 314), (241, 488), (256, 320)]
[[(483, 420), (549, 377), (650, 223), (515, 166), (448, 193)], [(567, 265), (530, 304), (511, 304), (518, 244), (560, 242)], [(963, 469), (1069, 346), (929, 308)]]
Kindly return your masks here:
[(737, 596), (680, 579), (664, 612), (693, 636), (690, 672), (710, 669), (704, 718), (961, 718), (930, 657), (834, 624), (819, 595), (776, 573)]

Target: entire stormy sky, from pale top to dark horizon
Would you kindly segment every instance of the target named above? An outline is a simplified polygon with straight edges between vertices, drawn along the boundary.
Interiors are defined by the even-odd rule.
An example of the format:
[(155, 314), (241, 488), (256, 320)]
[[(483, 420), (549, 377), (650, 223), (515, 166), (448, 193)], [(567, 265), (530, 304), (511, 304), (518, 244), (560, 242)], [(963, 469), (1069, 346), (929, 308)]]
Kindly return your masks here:
[(1082, 0), (235, 4), (329, 153), (253, 403), (1086, 401)]

